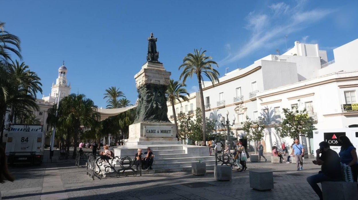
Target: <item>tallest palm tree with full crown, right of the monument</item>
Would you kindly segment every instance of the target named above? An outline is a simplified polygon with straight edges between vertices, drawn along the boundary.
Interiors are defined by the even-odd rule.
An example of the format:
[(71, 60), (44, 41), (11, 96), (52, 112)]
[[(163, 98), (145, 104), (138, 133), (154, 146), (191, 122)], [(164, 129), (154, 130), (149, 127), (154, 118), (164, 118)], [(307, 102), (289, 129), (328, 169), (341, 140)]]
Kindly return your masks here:
[(179, 70), (183, 68), (182, 74), (180, 74), (179, 79), (183, 78), (183, 84), (187, 80), (188, 77), (192, 78), (195, 74), (198, 79), (199, 84), (199, 93), (200, 93), (200, 99), (201, 99), (201, 106), (203, 109), (202, 116), (203, 116), (203, 145), (206, 145), (206, 138), (205, 138), (205, 130), (206, 130), (206, 124), (205, 124), (205, 107), (204, 107), (204, 97), (203, 97), (203, 87), (202, 87), (202, 81), (203, 81), (203, 74), (209, 78), (211, 83), (214, 85), (214, 81), (219, 82), (219, 72), (218, 70), (214, 69), (212, 65), (216, 65), (219, 67), (219, 65), (213, 61), (210, 56), (206, 56), (204, 53), (206, 50), (201, 52), (198, 49), (194, 49), (194, 54), (188, 53), (187, 56), (183, 59), (183, 64), (179, 66)]

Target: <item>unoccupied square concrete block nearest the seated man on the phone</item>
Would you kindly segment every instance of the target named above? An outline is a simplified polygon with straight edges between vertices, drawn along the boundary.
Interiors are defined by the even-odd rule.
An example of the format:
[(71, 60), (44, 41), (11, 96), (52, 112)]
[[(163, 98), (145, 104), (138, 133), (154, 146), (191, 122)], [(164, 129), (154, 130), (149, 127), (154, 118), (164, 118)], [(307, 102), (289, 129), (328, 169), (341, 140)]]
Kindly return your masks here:
[(250, 187), (258, 191), (274, 189), (274, 175), (272, 171), (250, 170)]

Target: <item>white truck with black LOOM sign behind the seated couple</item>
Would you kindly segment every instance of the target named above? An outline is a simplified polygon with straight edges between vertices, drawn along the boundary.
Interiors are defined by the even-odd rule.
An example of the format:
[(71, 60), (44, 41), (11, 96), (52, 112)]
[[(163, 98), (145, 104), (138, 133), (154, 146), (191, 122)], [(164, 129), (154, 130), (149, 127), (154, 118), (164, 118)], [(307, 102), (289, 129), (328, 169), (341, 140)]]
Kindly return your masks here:
[(342, 135), (347, 136), (354, 147), (358, 148), (358, 127), (320, 129), (313, 131), (314, 155), (316, 156), (316, 150), (319, 148), (319, 143), (322, 141), (328, 142), (330, 148), (339, 153), (341, 146), (338, 145), (338, 138)]

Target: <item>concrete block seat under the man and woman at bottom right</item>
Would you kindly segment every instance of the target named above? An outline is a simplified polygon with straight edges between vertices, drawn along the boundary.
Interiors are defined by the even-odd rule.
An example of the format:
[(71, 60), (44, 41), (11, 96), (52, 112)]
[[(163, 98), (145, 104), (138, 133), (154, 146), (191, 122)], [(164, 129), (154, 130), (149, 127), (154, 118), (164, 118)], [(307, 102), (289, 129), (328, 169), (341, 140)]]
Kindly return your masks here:
[(358, 200), (357, 182), (324, 181), (321, 184), (323, 199)]

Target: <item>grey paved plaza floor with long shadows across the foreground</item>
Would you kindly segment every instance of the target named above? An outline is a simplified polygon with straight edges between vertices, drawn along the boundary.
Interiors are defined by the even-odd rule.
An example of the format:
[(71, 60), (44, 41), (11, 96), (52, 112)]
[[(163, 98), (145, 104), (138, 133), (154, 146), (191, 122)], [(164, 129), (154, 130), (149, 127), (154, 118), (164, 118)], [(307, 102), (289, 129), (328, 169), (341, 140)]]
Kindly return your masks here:
[[(267, 158), (270, 159), (269, 154)], [(302, 171), (296, 171), (296, 164), (273, 164), (269, 159), (267, 162), (248, 161), (246, 172), (233, 169), (231, 181), (216, 181), (213, 170), (207, 170), (204, 176), (172, 172), (92, 180), (86, 175), (84, 166), (74, 166), (74, 160), (47, 162), (42, 166), (11, 167), (16, 180), (0, 184), (0, 190), (3, 199), (18, 200), (319, 199), (306, 181), (306, 177), (320, 170), (312, 164), (312, 156), (304, 160)], [(249, 171), (254, 169), (272, 170), (275, 188), (265, 192), (252, 190)]]

